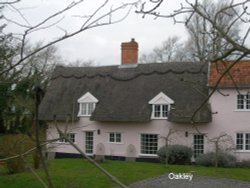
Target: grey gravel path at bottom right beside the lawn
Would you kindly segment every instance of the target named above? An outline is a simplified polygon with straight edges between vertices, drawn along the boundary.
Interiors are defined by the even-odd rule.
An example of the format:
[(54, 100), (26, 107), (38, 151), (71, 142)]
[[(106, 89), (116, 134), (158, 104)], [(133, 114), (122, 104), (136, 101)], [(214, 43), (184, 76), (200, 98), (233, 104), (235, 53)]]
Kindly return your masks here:
[(189, 180), (171, 180), (168, 174), (134, 183), (130, 188), (250, 188), (250, 182), (195, 176)]

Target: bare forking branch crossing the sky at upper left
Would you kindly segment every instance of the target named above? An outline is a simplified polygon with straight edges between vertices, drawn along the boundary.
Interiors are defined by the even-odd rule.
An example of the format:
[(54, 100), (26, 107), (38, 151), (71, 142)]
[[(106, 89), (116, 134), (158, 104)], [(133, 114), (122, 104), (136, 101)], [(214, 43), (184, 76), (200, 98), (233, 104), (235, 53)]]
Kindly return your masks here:
[[(68, 38), (71, 38), (71, 37), (83, 32), (83, 31), (86, 31), (86, 30), (89, 30), (89, 29), (92, 29), (92, 28), (95, 28), (95, 27), (101, 27), (101, 26), (111, 25), (111, 24), (121, 22), (122, 20), (124, 20), (128, 16), (128, 13), (131, 11), (132, 7), (134, 7), (137, 4), (137, 1), (133, 2), (133, 3), (125, 3), (125, 4), (122, 4), (122, 5), (118, 6), (117, 8), (111, 9), (111, 10), (107, 11), (106, 13), (101, 14), (100, 13), (101, 10), (103, 10), (103, 8), (108, 3), (108, 0), (106, 0), (102, 5), (97, 7), (94, 10), (94, 12), (92, 12), (92, 15), (87, 20), (85, 20), (85, 22), (82, 24), (80, 29), (75, 30), (75, 31), (70, 32), (70, 33), (66, 32), (66, 30), (65, 30), (63, 36), (58, 37), (57, 39), (48, 42), (47, 44), (41, 46), (40, 48), (36, 49), (33, 52), (30, 52), (29, 54), (25, 54), (24, 49), (25, 49), (26, 40), (27, 40), (27, 37), (28, 37), (29, 34), (31, 34), (32, 32), (35, 32), (37, 30), (40, 30), (40, 29), (51, 27), (51, 25), (44, 26), (44, 24), (46, 24), (51, 19), (54, 19), (57, 16), (59, 16), (59, 15), (65, 13), (66, 11), (72, 9), (73, 7), (77, 6), (78, 4), (80, 4), (82, 2), (84, 2), (84, 0), (79, 0), (77, 2), (72, 2), (70, 5), (68, 5), (63, 10), (54, 13), (53, 15), (51, 15), (51, 16), (47, 17), (46, 19), (44, 19), (42, 22), (40, 22), (40, 23), (26, 29), (24, 34), (22, 34), (22, 38), (21, 38), (21, 47), (20, 47), (20, 57), (19, 57), (19, 59), (17, 60), (17, 62), (15, 64), (10, 65), (8, 69), (5, 69), (2, 72), (0, 72), (0, 74), (4, 74), (4, 73), (9, 72), (10, 70), (12, 70), (15, 67), (17, 67), (18, 65), (20, 65), (23, 61), (25, 61), (26, 59), (28, 59), (31, 56), (35, 55), (36, 53), (42, 51), (43, 49), (45, 49), (45, 48), (47, 48), (47, 47), (49, 47), (51, 45), (54, 45), (54, 44), (56, 44), (58, 42), (61, 42), (63, 40), (66, 40)], [(129, 10), (127, 11), (127, 13), (123, 17), (121, 17), (121, 18), (119, 18), (117, 20), (112, 20), (111, 19), (112, 15), (114, 13), (116, 13), (119, 10), (122, 10), (124, 8), (127, 8), (127, 7), (129, 8)], [(99, 13), (100, 13), (100, 15), (98, 15)], [(107, 19), (107, 20), (105, 20), (105, 19)], [(54, 22), (54, 24), (55, 23), (57, 23), (57, 22)], [(27, 26), (25, 26), (25, 27), (27, 27)]]

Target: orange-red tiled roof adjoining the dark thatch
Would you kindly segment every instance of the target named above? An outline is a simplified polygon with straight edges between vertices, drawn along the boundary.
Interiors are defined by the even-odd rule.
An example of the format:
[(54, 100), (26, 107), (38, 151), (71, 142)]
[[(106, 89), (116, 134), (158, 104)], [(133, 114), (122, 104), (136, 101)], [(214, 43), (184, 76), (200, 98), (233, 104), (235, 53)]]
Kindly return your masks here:
[[(213, 62), (210, 66), (209, 86), (215, 87), (225, 71), (234, 62)], [(233, 67), (222, 77), (218, 88), (250, 87), (250, 60), (235, 63)]]

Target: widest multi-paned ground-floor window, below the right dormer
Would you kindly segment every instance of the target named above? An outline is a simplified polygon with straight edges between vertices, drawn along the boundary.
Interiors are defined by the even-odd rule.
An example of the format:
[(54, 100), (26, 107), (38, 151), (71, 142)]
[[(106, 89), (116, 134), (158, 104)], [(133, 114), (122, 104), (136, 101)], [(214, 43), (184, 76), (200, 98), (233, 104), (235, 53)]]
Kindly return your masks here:
[(158, 151), (157, 134), (141, 134), (141, 154), (156, 155)]

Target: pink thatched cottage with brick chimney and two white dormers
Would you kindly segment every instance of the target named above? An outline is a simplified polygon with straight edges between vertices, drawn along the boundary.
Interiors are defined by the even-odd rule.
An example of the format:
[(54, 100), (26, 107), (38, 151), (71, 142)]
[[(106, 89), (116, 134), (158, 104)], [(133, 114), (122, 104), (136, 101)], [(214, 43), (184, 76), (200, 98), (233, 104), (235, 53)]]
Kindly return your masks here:
[[(166, 142), (192, 147), (194, 157), (213, 150), (210, 138), (227, 131), (237, 144), (239, 130), (245, 143), (241, 149), (250, 151), (249, 111), (240, 117), (246, 123), (230, 123), (233, 114), (223, 122), (226, 111), (235, 110), (227, 105), (237, 99), (224, 101), (217, 92), (207, 100), (207, 63), (137, 64), (137, 42), (132, 39), (121, 48), (117, 66), (56, 67), (39, 108), (39, 119), (48, 124), (48, 139), (60, 137), (56, 120), (87, 155), (152, 160)], [(64, 139), (48, 144), (48, 152), (56, 157), (79, 155)], [(249, 158), (249, 153), (242, 157)]]

